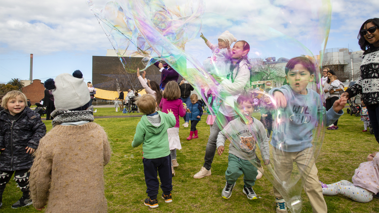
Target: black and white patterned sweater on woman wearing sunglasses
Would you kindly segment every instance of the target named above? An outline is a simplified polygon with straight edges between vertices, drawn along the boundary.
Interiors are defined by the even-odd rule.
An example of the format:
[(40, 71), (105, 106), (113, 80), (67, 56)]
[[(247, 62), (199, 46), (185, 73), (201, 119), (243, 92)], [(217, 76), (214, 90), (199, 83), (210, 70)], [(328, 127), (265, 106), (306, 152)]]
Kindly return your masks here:
[(379, 104), (379, 48), (363, 55), (361, 76), (346, 92), (350, 98), (362, 94), (365, 105)]

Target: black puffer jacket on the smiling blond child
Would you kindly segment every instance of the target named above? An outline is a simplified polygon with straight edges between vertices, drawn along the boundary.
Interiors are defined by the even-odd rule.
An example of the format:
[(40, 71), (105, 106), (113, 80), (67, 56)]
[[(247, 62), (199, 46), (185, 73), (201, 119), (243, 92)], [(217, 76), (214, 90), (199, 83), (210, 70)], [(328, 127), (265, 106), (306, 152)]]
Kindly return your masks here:
[(8, 110), (0, 111), (0, 168), (2, 171), (30, 169), (34, 157), (26, 153), (27, 146), (37, 149), (46, 134), (46, 126), (39, 114), (29, 107), (20, 112), (17, 120), (9, 120)]

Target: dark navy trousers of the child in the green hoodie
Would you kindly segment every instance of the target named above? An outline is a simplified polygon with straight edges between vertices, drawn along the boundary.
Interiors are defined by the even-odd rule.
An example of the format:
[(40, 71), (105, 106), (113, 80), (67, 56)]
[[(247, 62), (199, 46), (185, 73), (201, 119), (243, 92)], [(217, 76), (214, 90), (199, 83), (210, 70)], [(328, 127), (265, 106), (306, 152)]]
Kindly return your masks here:
[(171, 156), (155, 158), (155, 159), (143, 159), (144, 163), (144, 173), (145, 182), (148, 189), (146, 193), (150, 199), (156, 199), (159, 189), (159, 180), (157, 178), (157, 173), (159, 173), (160, 178), (160, 188), (164, 194), (170, 194), (172, 191), (172, 171), (171, 171)]

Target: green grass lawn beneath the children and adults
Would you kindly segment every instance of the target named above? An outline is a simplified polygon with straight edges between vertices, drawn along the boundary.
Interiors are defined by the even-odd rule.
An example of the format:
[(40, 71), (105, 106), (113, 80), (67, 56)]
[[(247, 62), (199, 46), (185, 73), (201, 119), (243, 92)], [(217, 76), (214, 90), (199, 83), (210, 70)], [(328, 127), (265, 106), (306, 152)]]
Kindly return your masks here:
[[(135, 115), (136, 113), (131, 113)], [(98, 108), (96, 116), (127, 115), (114, 112), (114, 108)], [(174, 213), (244, 213), (275, 212), (272, 184), (263, 177), (257, 180), (254, 190), (258, 200), (248, 200), (242, 192), (243, 180), (240, 177), (229, 199), (221, 197), (225, 185), (225, 171), (227, 169), (227, 146), (222, 156), (216, 155), (212, 164), (212, 176), (194, 179), (202, 164), (205, 147), (209, 136), (209, 126), (206, 125), (206, 114), (197, 125), (199, 139), (187, 141), (189, 128), (180, 127), (182, 149), (178, 150), (179, 167), (175, 168), (173, 178), (173, 202), (166, 204), (158, 196), (159, 208), (150, 209), (143, 204), (146, 194), (142, 164), (142, 146), (132, 148), (135, 127), (140, 117), (127, 118), (97, 118), (95, 122), (104, 127), (108, 133), (113, 155), (111, 162), (105, 167), (105, 194), (108, 200), (108, 212), (174, 212)], [(255, 117), (259, 118), (256, 113)], [(47, 130), (51, 129), (51, 122), (44, 121)], [(181, 119), (183, 124), (183, 119)], [(369, 153), (379, 149), (374, 135), (362, 132), (363, 122), (360, 117), (344, 114), (339, 120), (339, 130), (326, 130), (322, 150), (317, 159), (318, 176), (325, 183), (333, 183), (342, 179), (351, 181), (354, 170), (366, 160)], [(228, 144), (228, 142), (227, 142)], [(159, 190), (159, 195), (162, 193)], [(38, 211), (33, 206), (13, 210), (10, 206), (16, 202), (22, 193), (11, 180), (3, 194), (1, 213), (24, 213)], [(308, 198), (303, 192), (303, 212), (312, 212)], [(358, 203), (341, 195), (325, 196), (328, 210), (331, 213), (377, 213), (379, 200), (369, 203)], [(42, 211), (43, 212), (43, 211)]]

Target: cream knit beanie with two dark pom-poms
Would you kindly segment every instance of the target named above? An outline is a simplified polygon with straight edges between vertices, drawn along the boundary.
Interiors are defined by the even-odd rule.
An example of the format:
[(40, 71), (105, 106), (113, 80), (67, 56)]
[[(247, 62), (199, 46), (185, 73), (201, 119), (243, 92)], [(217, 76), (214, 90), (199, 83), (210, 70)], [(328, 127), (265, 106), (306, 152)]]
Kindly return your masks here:
[[(48, 90), (52, 90), (55, 108), (73, 110), (87, 108), (91, 97), (87, 84), (84, 82), (83, 74), (77, 70), (71, 75), (63, 73), (58, 75), (55, 80), (52, 78), (44, 82)], [(88, 105), (88, 106), (87, 106)]]

